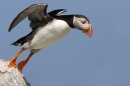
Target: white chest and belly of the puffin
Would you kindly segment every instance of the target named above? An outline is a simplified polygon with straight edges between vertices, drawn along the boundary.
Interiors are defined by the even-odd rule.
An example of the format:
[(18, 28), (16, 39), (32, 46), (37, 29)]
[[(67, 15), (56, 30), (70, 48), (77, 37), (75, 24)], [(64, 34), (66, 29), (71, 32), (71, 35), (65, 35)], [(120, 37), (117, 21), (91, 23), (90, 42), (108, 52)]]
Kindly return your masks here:
[(39, 30), (30, 44), (30, 49), (42, 49), (63, 38), (71, 28), (62, 20), (53, 20)]

